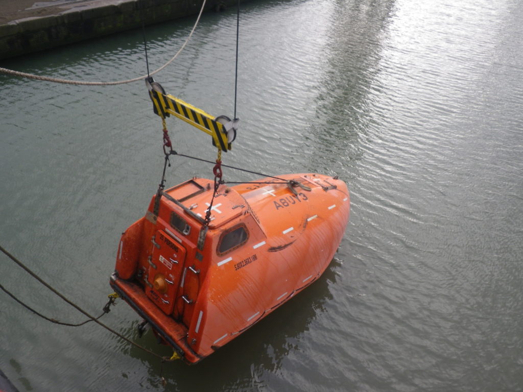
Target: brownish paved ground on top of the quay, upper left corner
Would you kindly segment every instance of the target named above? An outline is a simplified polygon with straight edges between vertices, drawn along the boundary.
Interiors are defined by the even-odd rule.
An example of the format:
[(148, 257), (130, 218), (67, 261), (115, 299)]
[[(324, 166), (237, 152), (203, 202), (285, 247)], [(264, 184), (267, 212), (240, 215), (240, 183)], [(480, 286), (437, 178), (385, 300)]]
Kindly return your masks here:
[(114, 0), (0, 0), (0, 25), (14, 20), (60, 14), (63, 11), (97, 4), (119, 3)]

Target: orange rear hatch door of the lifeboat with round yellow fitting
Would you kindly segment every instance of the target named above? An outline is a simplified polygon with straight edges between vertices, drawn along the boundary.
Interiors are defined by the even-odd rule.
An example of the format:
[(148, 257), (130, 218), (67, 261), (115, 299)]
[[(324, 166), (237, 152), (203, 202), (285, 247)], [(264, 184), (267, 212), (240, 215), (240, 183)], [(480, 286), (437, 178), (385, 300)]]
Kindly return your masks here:
[(181, 270), (185, 260), (185, 248), (158, 230), (153, 237), (153, 251), (147, 272), (147, 297), (162, 311), (173, 313), (176, 293), (180, 285)]

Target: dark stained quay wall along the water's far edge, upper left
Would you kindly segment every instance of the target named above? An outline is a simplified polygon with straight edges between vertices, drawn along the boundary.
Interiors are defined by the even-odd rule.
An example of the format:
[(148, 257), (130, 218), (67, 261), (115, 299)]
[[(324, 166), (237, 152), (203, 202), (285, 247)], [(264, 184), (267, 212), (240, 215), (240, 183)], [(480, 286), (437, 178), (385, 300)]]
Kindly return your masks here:
[[(16, 1), (16, 0), (15, 0)], [(0, 25), (0, 59), (42, 51), (166, 20), (197, 15), (202, 0), (91, 0), (57, 5)], [(49, 3), (52, 4), (52, 3)], [(235, 6), (237, 0), (207, 0), (206, 11)]]

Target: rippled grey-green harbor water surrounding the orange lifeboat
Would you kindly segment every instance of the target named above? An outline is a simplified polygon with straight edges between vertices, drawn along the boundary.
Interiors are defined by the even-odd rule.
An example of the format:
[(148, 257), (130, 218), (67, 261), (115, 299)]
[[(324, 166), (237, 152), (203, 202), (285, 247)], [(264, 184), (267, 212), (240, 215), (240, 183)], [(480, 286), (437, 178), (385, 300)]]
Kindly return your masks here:
[[(147, 27), (151, 70), (196, 17)], [(201, 363), (161, 362), (93, 322), (52, 324), (0, 293), (0, 368), (20, 391), (523, 390), (523, 3), (257, 0), (242, 4), (240, 130), (224, 164), (338, 175), (345, 238), (321, 278)], [(202, 16), (155, 75), (234, 115), (236, 10)], [(4, 61), (66, 79), (146, 73), (141, 30)], [(163, 169), (143, 82), (0, 75), (0, 245), (100, 314), (121, 232)], [(167, 119), (179, 153), (210, 137)], [(167, 186), (212, 177), (172, 157)], [(228, 181), (256, 176), (224, 168)], [(0, 254), (0, 283), (38, 312), (85, 316)], [(102, 319), (160, 355), (123, 301)], [(160, 374), (165, 377), (162, 385)]]

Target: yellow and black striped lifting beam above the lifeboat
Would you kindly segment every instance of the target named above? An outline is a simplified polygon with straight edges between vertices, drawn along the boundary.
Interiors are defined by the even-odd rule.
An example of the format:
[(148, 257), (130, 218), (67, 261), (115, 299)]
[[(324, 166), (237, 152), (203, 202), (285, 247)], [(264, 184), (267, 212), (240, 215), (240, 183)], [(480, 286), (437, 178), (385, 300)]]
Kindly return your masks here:
[(226, 116), (213, 117), (181, 99), (165, 94), (160, 83), (154, 82), (152, 77), (145, 79), (149, 96), (153, 101), (153, 109), (162, 119), (170, 114), (185, 122), (196, 126), (199, 130), (212, 136), (212, 144), (219, 146), (221, 151), (231, 149), (231, 143), (236, 138), (238, 120), (231, 120)]

